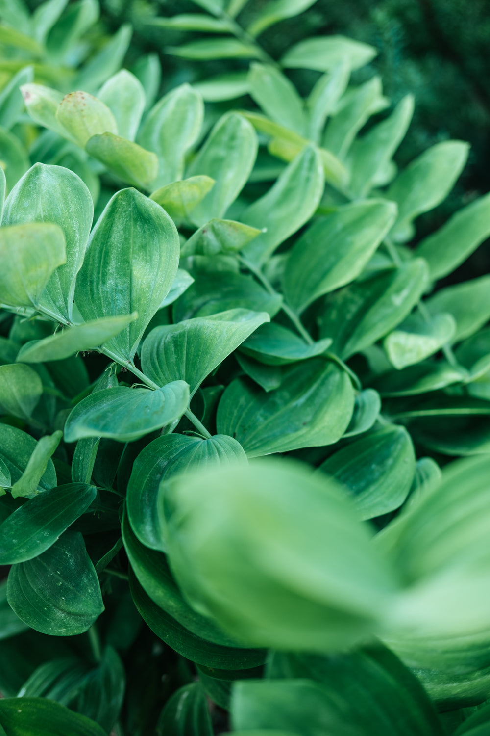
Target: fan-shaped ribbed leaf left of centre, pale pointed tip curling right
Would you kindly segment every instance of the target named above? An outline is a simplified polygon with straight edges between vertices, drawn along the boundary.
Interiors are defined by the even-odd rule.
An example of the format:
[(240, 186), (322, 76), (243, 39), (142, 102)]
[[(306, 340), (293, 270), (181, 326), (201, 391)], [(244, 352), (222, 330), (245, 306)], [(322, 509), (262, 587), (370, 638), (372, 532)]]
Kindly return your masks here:
[(206, 375), (264, 322), (269, 322), (265, 312), (233, 309), (157, 327), (143, 342), (143, 372), (159, 386), (186, 381), (192, 395)]

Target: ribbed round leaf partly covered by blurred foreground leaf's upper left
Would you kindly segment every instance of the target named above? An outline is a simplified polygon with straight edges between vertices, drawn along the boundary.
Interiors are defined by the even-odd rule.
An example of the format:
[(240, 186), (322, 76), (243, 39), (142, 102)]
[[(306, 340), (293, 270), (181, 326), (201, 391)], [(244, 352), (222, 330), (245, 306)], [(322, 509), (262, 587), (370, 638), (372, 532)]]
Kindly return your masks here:
[[(226, 435), (201, 439), (168, 434), (154, 439), (135, 459), (126, 492), (126, 512), (134, 534), (143, 545), (165, 552), (165, 525), (159, 503), (160, 482), (184, 472), (190, 466), (206, 467), (212, 462), (226, 465), (241, 460), (246, 461), (242, 447)], [(172, 615), (176, 616), (175, 613)]]

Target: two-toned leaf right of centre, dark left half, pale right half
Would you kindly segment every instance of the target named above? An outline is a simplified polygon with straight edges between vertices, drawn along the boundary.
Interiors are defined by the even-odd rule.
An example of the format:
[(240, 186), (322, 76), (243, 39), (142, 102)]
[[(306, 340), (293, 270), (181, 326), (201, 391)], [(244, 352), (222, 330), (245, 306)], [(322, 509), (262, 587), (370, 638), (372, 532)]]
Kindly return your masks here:
[(350, 358), (402, 322), (419, 301), (427, 282), (427, 263), (417, 258), (392, 272), (345, 286), (325, 300), (319, 319), (320, 336), (331, 336), (332, 352), (344, 360)]

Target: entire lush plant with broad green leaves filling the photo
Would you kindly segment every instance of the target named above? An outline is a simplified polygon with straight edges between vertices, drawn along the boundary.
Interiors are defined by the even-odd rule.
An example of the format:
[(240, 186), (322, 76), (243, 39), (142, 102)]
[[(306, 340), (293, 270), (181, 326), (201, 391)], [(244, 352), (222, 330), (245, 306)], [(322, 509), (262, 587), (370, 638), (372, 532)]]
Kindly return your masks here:
[(414, 247), (468, 146), (397, 171), (411, 97), (350, 84), (375, 49), (276, 63), (255, 38), (311, 2), (246, 36), (196, 4), (162, 24), (246, 76), (0, 93), (34, 164), (0, 172), (0, 732), (211, 734), (208, 696), (237, 735), (483, 733), (489, 277), (437, 280), (490, 196)]

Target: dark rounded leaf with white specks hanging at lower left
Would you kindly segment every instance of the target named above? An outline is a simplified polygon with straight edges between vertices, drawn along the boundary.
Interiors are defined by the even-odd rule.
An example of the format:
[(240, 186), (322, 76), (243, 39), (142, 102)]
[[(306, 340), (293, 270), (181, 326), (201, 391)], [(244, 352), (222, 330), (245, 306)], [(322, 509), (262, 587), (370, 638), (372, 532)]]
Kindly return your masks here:
[(40, 556), (13, 565), (7, 598), (18, 617), (42, 634), (87, 631), (104, 604), (82, 534), (67, 531)]

